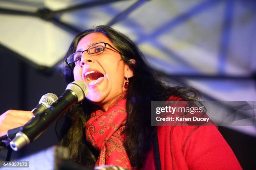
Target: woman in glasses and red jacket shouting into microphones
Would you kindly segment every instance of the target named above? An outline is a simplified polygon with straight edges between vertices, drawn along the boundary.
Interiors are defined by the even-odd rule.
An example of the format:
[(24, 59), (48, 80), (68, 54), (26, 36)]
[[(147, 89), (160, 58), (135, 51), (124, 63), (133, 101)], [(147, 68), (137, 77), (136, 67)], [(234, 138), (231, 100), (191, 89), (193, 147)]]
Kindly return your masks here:
[[(151, 101), (196, 101), (196, 90), (170, 87), (150, 68), (133, 41), (108, 26), (80, 32), (61, 64), (67, 83), (82, 80), (88, 94), (64, 115), (60, 145), (71, 161), (127, 169), (241, 169), (216, 126), (151, 126)], [(9, 110), (0, 133), (33, 114)]]

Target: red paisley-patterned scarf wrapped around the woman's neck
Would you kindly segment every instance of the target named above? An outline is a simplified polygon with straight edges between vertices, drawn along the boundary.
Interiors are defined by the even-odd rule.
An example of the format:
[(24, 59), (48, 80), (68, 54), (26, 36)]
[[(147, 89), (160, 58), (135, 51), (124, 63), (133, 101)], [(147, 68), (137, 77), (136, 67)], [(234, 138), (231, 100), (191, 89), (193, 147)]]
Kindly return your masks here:
[(86, 122), (86, 139), (100, 151), (95, 166), (132, 168), (124, 146), (124, 134), (121, 135), (127, 117), (125, 104), (126, 99), (123, 97), (106, 112), (92, 112), (90, 120)]

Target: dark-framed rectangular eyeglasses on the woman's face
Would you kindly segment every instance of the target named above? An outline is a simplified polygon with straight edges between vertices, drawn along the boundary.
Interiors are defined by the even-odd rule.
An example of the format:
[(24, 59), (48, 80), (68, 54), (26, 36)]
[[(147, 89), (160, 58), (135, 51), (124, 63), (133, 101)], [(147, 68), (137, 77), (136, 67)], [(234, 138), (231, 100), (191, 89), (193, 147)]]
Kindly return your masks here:
[(117, 49), (112, 47), (109, 43), (99, 42), (99, 43), (96, 43), (96, 44), (90, 46), (87, 50), (78, 51), (78, 52), (73, 53), (72, 55), (69, 55), (66, 59), (66, 63), (69, 65), (70, 68), (73, 69), (76, 64), (76, 61), (81, 60), (83, 52), (87, 51), (88, 54), (90, 54), (90, 55), (99, 55), (105, 50), (106, 45), (109, 45), (116, 52), (120, 53)]

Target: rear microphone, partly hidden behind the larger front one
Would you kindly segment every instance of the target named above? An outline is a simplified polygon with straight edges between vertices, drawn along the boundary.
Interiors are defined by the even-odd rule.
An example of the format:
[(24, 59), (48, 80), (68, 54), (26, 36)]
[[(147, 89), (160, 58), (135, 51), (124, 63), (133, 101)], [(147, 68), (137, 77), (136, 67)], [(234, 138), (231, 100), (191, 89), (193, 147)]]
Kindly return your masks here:
[[(35, 108), (31, 112), (33, 112), (34, 115), (41, 114), (44, 112), (47, 107), (49, 107), (51, 104), (53, 104), (56, 100), (58, 100), (58, 97), (53, 93), (47, 93), (43, 95)], [(13, 139), (19, 131), (23, 129), (23, 126), (20, 126), (18, 128), (10, 129), (7, 131), (7, 138)]]

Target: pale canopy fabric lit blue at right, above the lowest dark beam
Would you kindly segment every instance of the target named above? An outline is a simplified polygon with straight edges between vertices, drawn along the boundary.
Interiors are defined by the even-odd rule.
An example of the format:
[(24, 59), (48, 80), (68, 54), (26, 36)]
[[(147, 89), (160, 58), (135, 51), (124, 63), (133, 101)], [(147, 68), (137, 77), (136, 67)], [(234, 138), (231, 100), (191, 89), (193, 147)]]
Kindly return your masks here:
[[(54, 11), (86, 2), (90, 1), (4, 0), (0, 7)], [(135, 2), (120, 0), (57, 16), (61, 22), (84, 30), (107, 24)], [(152, 65), (161, 70), (250, 75), (256, 66), (254, 9), (249, 2), (233, 0), (150, 0), (113, 27), (132, 37)], [(0, 14), (0, 22), (2, 45), (47, 67), (61, 60), (74, 37), (73, 32), (38, 17)]]

